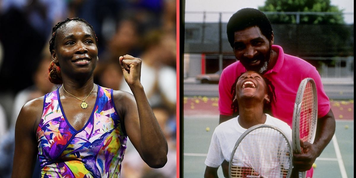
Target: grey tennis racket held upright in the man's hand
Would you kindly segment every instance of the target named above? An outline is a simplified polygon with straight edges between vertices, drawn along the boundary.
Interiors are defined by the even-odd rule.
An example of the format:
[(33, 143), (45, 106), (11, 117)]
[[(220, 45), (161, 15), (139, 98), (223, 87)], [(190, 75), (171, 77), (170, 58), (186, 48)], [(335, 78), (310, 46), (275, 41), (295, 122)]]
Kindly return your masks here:
[[(300, 82), (297, 98), (295, 98), (292, 145), (294, 153), (303, 153), (300, 141), (313, 143), (316, 132), (316, 120), (318, 119), (318, 96), (316, 86), (312, 78), (305, 78)], [(305, 178), (306, 172), (299, 172), (300, 178)]]

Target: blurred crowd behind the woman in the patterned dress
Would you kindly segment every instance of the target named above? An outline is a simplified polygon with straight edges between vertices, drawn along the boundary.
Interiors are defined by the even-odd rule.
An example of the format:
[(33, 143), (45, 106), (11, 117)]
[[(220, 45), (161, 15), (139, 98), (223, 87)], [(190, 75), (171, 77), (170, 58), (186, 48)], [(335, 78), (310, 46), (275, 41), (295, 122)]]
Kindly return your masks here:
[[(128, 141), (121, 177), (176, 177), (176, 0), (0, 0), (0, 178), (11, 176), (21, 107), (59, 87), (47, 79), (49, 39), (54, 25), (72, 17), (98, 36), (95, 83), (131, 92), (119, 56), (142, 59), (141, 82), (167, 138), (161, 169), (149, 168)], [(39, 173), (37, 165), (33, 177)]]

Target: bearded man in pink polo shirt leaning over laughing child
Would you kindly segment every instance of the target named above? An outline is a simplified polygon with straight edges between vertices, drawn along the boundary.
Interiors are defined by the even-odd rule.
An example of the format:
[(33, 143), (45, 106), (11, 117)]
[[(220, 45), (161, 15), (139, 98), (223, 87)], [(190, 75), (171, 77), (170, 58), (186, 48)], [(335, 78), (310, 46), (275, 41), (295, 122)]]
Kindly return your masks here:
[[(274, 36), (271, 23), (266, 15), (257, 9), (241, 9), (231, 16), (227, 23), (227, 38), (234, 50), (237, 62), (226, 67), (219, 81), (219, 123), (239, 115), (234, 113), (232, 87), (236, 79), (253, 70), (263, 74), (274, 86), (276, 99), (272, 103), (271, 114), (292, 126), (292, 115), (299, 83), (304, 78), (313, 78), (318, 91), (318, 125), (313, 144), (304, 142), (303, 154), (294, 154), (294, 167), (307, 171), (320, 156), (335, 132), (335, 118), (330, 109), (316, 68), (298, 57), (284, 54), (282, 47), (273, 45)], [(303, 149), (303, 150), (304, 150)], [(313, 169), (307, 176), (312, 177)]]

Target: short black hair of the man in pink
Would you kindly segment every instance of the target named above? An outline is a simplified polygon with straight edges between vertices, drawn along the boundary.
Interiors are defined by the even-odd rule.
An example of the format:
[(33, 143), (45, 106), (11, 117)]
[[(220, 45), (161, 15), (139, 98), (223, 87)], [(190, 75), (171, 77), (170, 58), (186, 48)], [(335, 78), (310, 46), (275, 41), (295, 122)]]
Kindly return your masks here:
[(248, 27), (257, 26), (262, 34), (269, 40), (272, 40), (272, 26), (267, 16), (260, 10), (253, 8), (244, 8), (235, 12), (227, 22), (227, 39), (232, 48), (234, 48), (235, 32), (244, 30)]

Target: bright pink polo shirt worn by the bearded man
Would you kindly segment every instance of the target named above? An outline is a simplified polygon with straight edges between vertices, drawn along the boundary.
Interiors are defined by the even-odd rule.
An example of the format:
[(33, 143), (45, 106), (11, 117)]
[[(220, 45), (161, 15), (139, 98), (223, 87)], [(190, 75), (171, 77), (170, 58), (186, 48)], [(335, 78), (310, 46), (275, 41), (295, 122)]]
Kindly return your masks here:
[[(282, 47), (272, 45), (273, 51), (278, 53), (278, 59), (273, 69), (268, 70), (263, 76), (269, 79), (276, 93), (276, 101), (272, 102), (272, 114), (292, 127), (293, 108), (295, 97), (300, 82), (304, 78), (313, 78), (318, 93), (318, 118), (328, 114), (330, 101), (326, 96), (320, 75), (316, 68), (298, 57), (284, 54)], [(232, 115), (231, 87), (237, 77), (246, 69), (240, 61), (227, 66), (219, 81), (219, 111), (221, 115)]]

